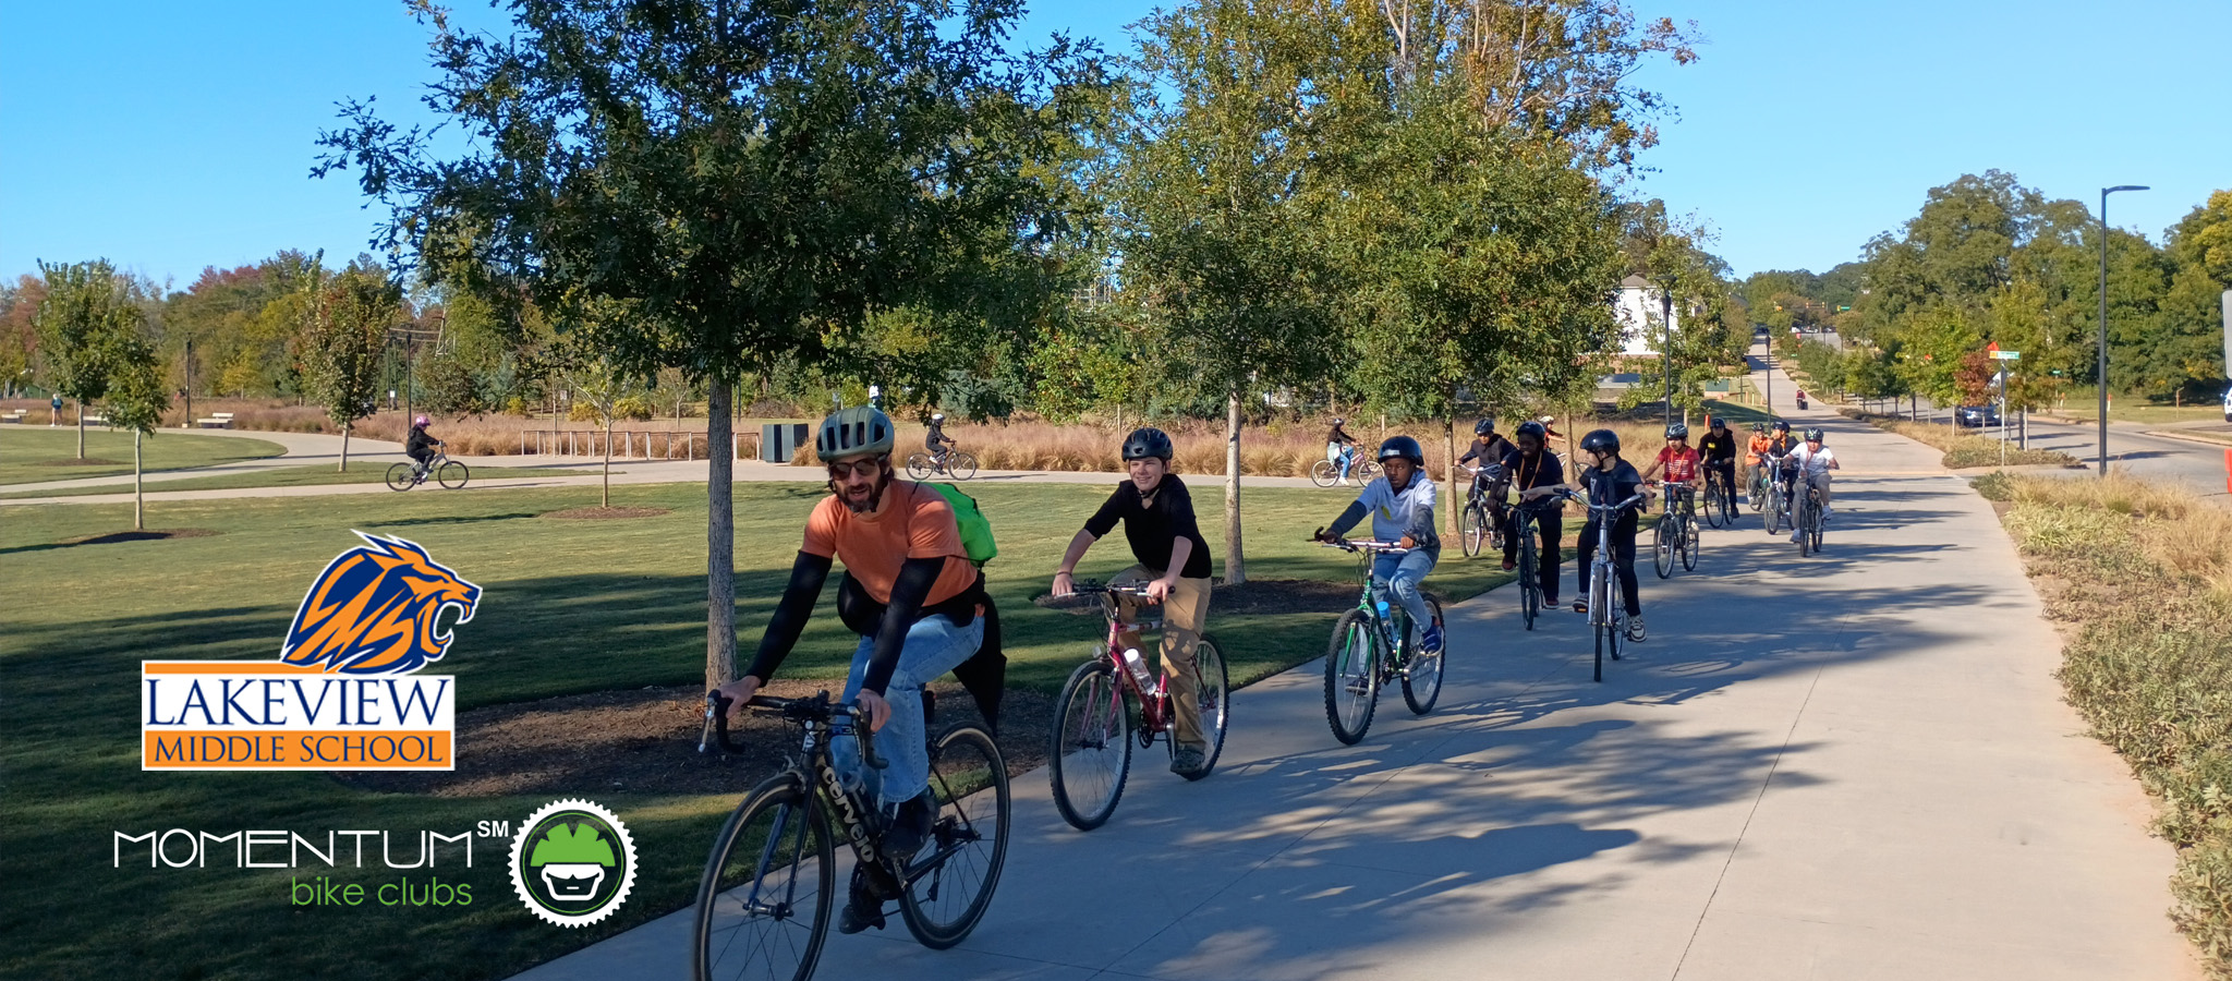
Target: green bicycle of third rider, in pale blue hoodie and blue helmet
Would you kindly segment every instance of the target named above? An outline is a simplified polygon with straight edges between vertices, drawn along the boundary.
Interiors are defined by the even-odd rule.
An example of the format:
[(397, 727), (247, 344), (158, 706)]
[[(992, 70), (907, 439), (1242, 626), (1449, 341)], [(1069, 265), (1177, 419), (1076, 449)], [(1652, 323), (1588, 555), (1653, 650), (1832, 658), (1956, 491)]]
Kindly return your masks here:
[[(1326, 724), (1333, 737), (1355, 746), (1373, 726), (1373, 708), (1379, 706), (1379, 688), (1402, 679), (1402, 699), (1413, 715), (1426, 715), (1442, 697), (1442, 655), (1420, 648), (1420, 630), (1402, 606), (1391, 606), (1386, 588), (1373, 581), (1373, 559), (1382, 554), (1408, 554), (1408, 547), (1391, 541), (1328, 541), (1357, 556), (1364, 568), (1364, 590), (1357, 608), (1333, 623), (1333, 641), (1326, 648)], [(1433, 621), (1442, 623), (1442, 603), (1426, 597)]]

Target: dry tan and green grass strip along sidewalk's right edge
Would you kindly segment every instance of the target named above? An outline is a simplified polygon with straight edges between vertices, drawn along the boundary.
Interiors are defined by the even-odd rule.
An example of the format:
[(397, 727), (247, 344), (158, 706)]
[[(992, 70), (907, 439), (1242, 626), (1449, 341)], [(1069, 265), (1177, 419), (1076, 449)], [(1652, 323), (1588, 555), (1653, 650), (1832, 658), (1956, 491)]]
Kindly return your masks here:
[(2004, 523), (2069, 626), (2060, 679), (2154, 793), (2178, 847), (2172, 918), (2232, 979), (2232, 512), (2120, 474), (1991, 474)]

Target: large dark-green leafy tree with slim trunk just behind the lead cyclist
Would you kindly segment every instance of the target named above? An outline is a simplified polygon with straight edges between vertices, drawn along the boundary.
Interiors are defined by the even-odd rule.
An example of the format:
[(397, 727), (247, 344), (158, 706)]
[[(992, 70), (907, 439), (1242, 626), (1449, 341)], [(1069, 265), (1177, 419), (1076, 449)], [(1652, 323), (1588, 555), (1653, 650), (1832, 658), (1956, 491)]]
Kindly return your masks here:
[[(391, 201), (384, 244), (435, 286), (516, 284), (616, 366), (703, 382), (714, 447), (741, 378), (853, 366), (877, 311), (973, 308), (980, 270), (1058, 239), (1042, 165), (1105, 87), (1065, 40), (1009, 51), (1016, 4), (518, 0), (509, 40), (426, 11), (462, 156), (357, 103), (319, 172)], [(600, 302), (634, 315), (571, 315)], [(708, 476), (708, 682), (734, 675), (732, 465)]]

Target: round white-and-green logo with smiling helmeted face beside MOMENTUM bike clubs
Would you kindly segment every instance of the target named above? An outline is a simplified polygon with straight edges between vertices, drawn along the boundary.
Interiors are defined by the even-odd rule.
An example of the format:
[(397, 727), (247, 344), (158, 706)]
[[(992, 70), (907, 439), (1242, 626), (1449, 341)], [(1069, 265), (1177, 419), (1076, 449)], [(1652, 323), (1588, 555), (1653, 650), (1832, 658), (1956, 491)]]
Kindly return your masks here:
[(627, 825), (589, 800), (551, 800), (511, 838), (511, 887), (547, 923), (585, 927), (612, 916), (634, 885)]

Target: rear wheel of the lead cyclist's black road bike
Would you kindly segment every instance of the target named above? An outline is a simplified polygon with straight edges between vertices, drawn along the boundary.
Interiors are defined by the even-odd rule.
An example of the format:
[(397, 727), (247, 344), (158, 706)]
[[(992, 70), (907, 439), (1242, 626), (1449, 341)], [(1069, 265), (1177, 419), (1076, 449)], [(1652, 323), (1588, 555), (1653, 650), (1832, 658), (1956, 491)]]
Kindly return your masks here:
[(946, 950), (984, 918), (1007, 865), (1013, 798), (1007, 758), (991, 733), (964, 722), (931, 740), (931, 791), (937, 793), (931, 854), (908, 863), (899, 916), (917, 943)]

